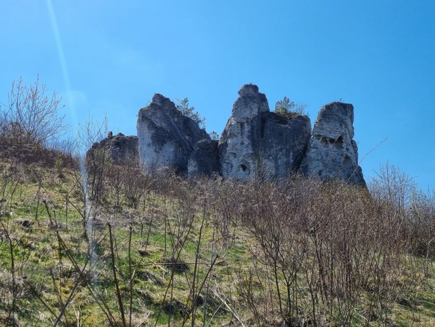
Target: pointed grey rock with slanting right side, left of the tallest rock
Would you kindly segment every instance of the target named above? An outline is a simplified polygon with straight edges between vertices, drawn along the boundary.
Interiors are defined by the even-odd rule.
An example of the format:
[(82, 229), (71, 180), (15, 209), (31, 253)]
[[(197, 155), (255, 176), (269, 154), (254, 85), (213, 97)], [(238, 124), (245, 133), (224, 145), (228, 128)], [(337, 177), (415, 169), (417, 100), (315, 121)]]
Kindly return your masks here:
[(210, 139), (175, 104), (160, 94), (152, 97), (149, 106), (140, 109), (137, 121), (139, 159), (146, 169), (171, 168), (187, 172), (193, 146), (201, 139)]

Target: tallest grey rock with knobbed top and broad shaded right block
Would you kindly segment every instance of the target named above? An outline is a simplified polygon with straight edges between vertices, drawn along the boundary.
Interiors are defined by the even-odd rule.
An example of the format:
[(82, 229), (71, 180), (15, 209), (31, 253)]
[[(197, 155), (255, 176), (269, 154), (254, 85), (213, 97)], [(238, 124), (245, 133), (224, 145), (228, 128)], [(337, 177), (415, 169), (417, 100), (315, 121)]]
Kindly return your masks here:
[(260, 169), (271, 177), (285, 177), (299, 168), (310, 136), (307, 116), (290, 119), (270, 112), (258, 86), (245, 84), (219, 140), (220, 172), (241, 180), (253, 178)]

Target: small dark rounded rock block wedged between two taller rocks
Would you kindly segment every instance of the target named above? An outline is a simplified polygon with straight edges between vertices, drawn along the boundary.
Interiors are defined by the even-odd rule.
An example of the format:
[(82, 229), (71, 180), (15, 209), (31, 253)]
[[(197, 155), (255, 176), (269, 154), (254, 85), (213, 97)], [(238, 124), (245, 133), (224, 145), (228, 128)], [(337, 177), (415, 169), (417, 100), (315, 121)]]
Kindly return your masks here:
[(213, 139), (203, 139), (195, 143), (187, 165), (189, 177), (212, 176), (219, 173), (217, 146), (218, 142)]

